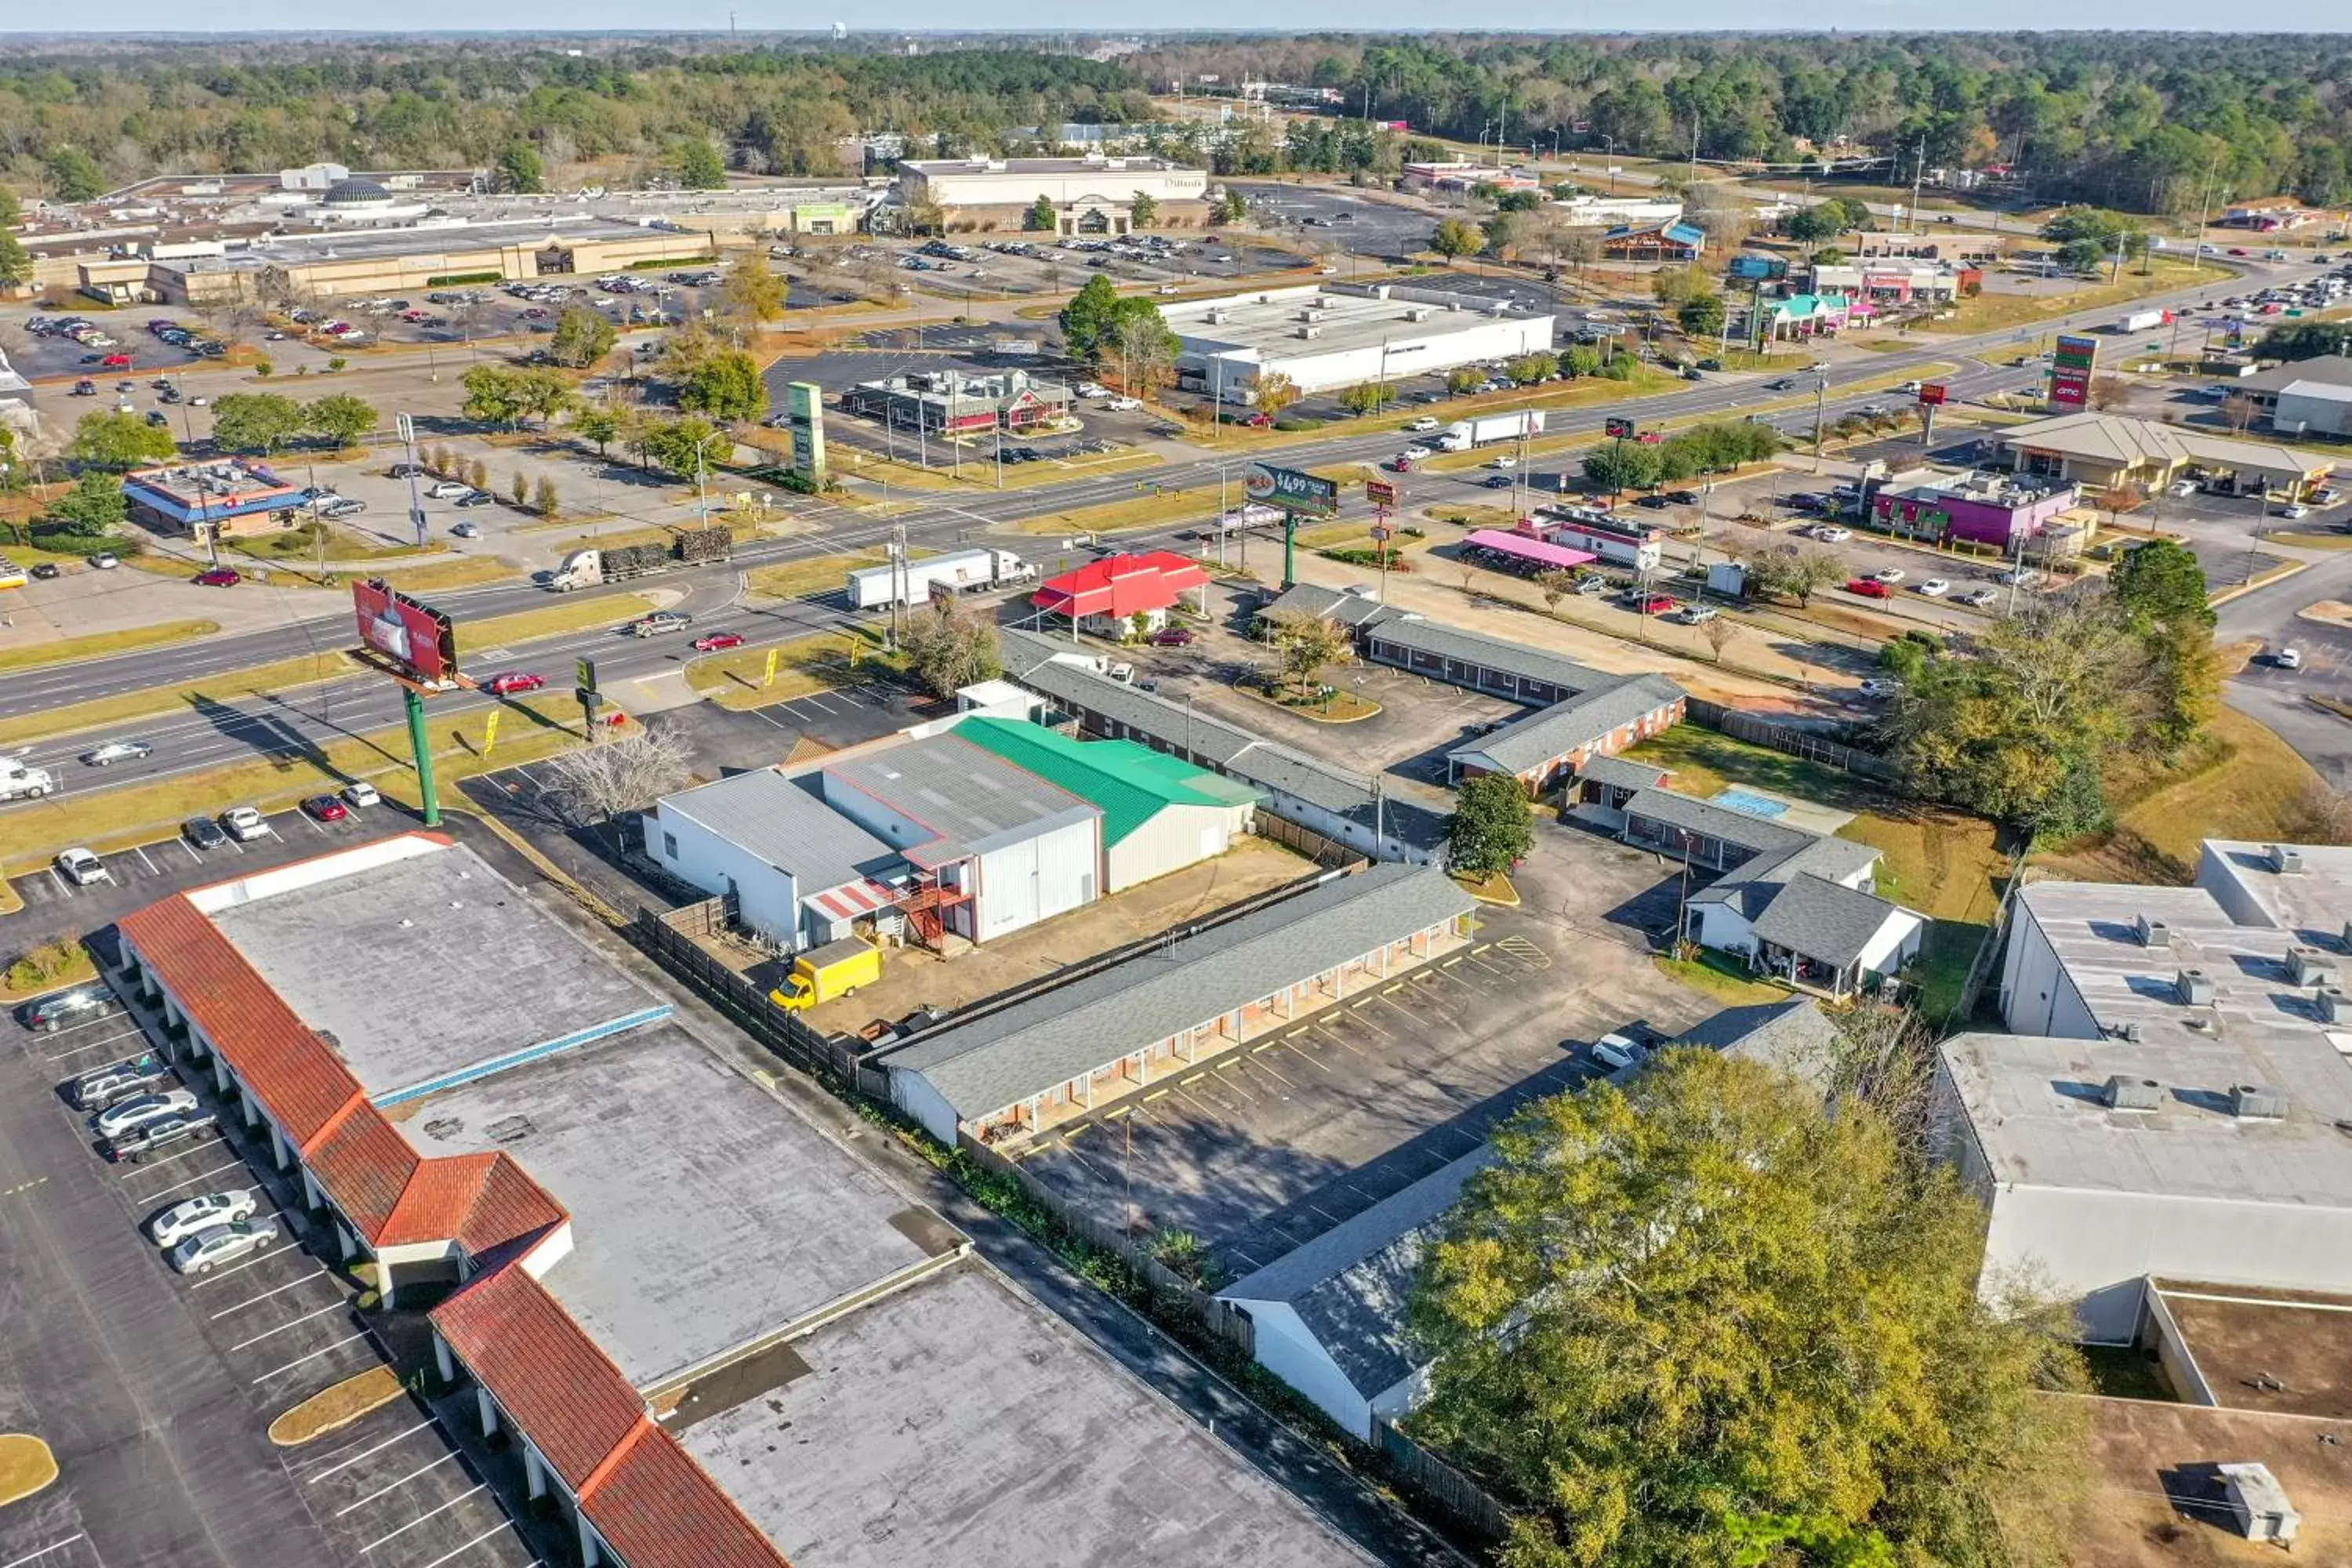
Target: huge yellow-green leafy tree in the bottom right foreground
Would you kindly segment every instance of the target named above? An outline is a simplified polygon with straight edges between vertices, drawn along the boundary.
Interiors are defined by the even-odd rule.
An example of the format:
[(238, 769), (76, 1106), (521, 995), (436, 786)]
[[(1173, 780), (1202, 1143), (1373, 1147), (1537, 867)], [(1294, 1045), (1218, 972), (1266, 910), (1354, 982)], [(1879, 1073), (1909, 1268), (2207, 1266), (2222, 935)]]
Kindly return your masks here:
[[(1423, 1441), (1526, 1505), (1505, 1568), (2056, 1559), (2086, 1413), (2049, 1389), (2082, 1359), (2049, 1305), (1978, 1295), (1983, 1208), (1872, 1105), (1668, 1048), (1494, 1150), (1409, 1324)], [(1879, 1544), (1769, 1544), (1851, 1537)]]

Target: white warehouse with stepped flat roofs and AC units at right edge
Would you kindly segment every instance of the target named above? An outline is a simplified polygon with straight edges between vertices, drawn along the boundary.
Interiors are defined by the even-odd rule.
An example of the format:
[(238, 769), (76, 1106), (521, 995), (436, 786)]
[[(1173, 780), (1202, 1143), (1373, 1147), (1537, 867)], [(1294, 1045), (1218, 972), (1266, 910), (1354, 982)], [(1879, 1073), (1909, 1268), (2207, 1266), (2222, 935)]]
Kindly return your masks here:
[(2039, 882), (2016, 1034), (1938, 1063), (1938, 1138), (1990, 1208), (1985, 1288), (2140, 1335), (2145, 1281), (2352, 1291), (2352, 849), (2209, 839), (2197, 884)]

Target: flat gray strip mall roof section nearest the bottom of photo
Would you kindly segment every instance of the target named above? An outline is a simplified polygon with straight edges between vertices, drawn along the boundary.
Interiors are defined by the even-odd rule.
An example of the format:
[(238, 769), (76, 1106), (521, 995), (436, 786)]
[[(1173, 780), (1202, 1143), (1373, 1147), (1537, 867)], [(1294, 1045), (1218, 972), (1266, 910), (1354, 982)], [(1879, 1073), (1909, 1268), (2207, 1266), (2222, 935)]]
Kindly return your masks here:
[(677, 1441), (795, 1568), (1374, 1561), (978, 1260), (793, 1349)]

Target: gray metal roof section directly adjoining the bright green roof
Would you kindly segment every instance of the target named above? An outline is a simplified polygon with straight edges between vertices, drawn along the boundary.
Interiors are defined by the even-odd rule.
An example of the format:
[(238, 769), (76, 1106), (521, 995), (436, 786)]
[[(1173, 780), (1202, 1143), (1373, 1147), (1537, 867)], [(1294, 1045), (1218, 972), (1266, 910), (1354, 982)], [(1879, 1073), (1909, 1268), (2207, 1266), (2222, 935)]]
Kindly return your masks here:
[(931, 837), (903, 849), (906, 858), (922, 865), (985, 856), (1103, 816), (1068, 790), (1016, 769), (953, 731), (811, 766), (826, 776), (828, 802), (849, 788), (927, 827)]

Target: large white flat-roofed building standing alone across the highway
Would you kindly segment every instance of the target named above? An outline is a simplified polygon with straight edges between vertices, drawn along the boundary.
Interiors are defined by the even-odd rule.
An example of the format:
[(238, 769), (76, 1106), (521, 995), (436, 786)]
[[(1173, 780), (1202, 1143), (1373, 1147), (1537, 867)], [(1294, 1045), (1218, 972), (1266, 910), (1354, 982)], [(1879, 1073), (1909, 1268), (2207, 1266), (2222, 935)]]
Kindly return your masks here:
[(1327, 393), (1552, 348), (1550, 313), (1392, 284), (1171, 301), (1160, 315), (1178, 339), (1176, 383), (1225, 402), (1249, 402), (1272, 374)]

